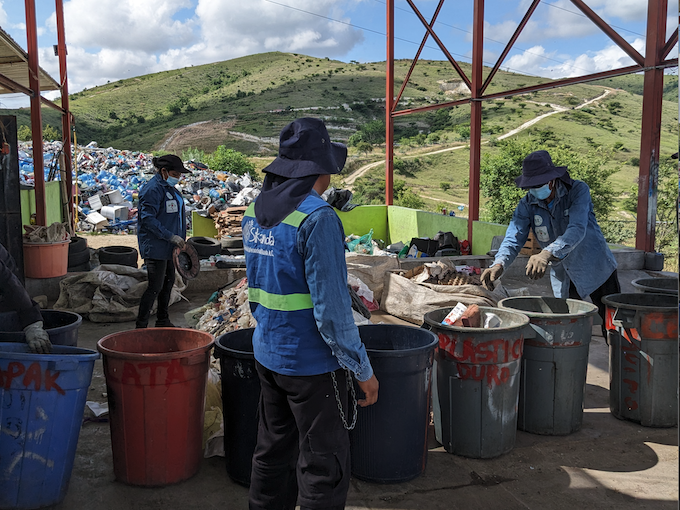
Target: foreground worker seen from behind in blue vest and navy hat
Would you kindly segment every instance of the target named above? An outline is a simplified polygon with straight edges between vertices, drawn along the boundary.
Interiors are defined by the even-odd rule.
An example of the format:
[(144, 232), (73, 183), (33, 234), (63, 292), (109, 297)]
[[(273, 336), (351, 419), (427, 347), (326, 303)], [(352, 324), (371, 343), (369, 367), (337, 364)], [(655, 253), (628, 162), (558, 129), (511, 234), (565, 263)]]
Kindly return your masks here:
[(313, 118), (288, 124), (279, 141), (242, 222), (261, 386), (250, 508), (342, 509), (357, 404), (349, 372), (360, 406), (378, 399), (347, 292), (342, 223), (320, 197), (347, 148)]

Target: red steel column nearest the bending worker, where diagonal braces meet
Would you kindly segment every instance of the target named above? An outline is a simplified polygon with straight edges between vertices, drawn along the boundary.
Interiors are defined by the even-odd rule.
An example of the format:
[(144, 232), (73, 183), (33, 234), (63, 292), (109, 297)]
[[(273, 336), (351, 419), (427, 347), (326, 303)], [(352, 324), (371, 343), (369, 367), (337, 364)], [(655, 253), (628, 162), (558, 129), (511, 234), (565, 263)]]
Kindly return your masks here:
[(472, 225), (479, 220), (479, 166), (482, 139), (482, 56), (484, 49), (484, 0), (475, 0), (472, 35), (472, 90), (470, 102), (470, 189), (468, 191), (468, 242), (472, 249)]

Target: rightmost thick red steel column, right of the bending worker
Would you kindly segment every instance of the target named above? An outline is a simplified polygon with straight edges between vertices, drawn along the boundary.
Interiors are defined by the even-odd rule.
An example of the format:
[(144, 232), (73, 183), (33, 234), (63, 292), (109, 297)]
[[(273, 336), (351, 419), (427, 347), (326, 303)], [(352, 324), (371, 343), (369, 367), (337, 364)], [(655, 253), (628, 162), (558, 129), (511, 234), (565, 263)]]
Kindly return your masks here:
[[(640, 179), (638, 184), (637, 230), (635, 247), (655, 251), (656, 178), (652, 168), (659, 164), (661, 139), (661, 104), (663, 69), (655, 69), (662, 60), (666, 43), (668, 0), (649, 0), (647, 7), (647, 46), (645, 50), (644, 89), (642, 96), (642, 137), (640, 140)], [(653, 181), (653, 182), (652, 182)]]

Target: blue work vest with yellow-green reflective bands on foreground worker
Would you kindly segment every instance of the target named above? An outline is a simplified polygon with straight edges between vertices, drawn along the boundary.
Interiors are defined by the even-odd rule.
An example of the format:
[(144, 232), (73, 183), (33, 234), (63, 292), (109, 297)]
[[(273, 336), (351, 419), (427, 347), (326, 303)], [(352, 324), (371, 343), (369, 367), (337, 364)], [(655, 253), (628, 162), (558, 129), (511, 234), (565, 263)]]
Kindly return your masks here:
[(316, 326), (305, 262), (297, 250), (298, 227), (321, 207), (330, 206), (308, 196), (281, 223), (265, 229), (251, 204), (241, 223), (248, 300), (257, 320), (253, 352), (278, 374), (318, 375), (340, 367)]

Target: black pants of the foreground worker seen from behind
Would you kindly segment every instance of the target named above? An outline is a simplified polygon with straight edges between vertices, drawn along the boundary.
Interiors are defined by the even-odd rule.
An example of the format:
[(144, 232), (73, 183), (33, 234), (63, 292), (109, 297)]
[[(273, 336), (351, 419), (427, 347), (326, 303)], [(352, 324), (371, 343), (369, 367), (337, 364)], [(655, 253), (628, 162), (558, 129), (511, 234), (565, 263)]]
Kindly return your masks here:
[[(257, 363), (260, 378), (251, 510), (345, 508), (350, 479), (349, 433), (342, 424), (331, 374), (293, 377)], [(335, 372), (347, 420), (345, 372)]]

